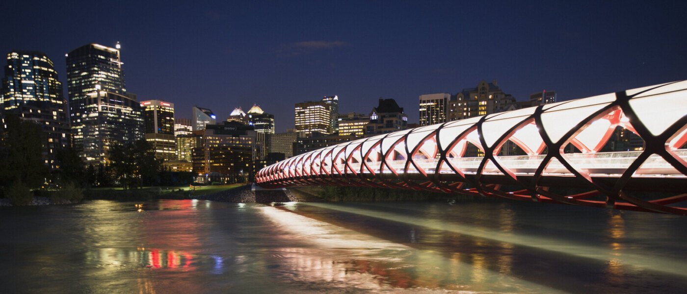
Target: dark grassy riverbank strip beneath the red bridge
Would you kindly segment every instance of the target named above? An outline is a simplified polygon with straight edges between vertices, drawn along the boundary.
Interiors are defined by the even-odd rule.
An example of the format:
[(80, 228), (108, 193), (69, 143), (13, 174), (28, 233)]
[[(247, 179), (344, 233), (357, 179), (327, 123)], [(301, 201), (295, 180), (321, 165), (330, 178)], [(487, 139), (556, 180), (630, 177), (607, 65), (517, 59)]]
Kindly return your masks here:
[(317, 196), (324, 201), (405, 201), (433, 199), (475, 199), (475, 196), (352, 186), (311, 186), (290, 188), (297, 196)]

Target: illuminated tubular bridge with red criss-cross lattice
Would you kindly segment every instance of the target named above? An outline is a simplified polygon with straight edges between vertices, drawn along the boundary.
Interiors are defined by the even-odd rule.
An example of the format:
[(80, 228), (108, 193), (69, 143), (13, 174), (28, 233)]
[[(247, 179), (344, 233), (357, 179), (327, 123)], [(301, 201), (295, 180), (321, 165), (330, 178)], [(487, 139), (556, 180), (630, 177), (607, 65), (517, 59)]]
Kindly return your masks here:
[(265, 167), (256, 182), (687, 215), (686, 143), (680, 81), (361, 138)]

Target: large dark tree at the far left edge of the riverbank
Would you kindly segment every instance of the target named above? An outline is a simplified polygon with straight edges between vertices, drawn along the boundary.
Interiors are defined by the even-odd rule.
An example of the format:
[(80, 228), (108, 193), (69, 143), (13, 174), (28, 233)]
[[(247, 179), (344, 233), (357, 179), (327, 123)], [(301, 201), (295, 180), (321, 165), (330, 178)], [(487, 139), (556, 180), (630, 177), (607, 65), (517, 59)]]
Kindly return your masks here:
[(45, 133), (41, 126), (6, 114), (0, 127), (0, 186), (20, 181), (30, 188), (43, 184), (49, 172), (43, 162)]

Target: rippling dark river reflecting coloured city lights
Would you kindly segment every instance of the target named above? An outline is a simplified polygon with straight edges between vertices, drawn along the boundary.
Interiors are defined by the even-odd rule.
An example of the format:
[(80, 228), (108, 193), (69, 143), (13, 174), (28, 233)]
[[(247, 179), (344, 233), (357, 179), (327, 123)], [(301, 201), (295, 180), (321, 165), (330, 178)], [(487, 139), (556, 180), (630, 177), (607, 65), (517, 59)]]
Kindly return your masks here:
[(556, 204), (96, 200), (0, 228), (1, 293), (687, 289), (687, 217)]

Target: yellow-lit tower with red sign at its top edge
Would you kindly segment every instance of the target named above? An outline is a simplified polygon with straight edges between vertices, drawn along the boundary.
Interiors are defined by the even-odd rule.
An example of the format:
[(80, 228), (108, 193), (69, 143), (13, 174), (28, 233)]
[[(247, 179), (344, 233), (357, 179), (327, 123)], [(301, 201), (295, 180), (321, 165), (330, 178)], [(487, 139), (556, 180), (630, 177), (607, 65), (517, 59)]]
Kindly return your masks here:
[(155, 148), (159, 160), (177, 158), (177, 140), (174, 139), (174, 104), (160, 101), (141, 101), (146, 140)]

